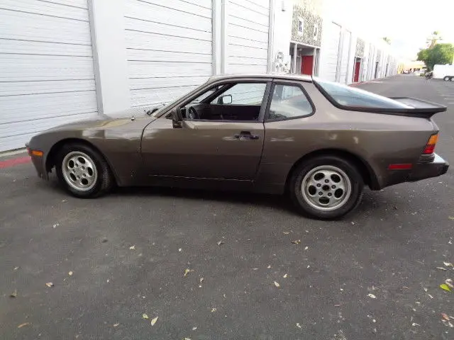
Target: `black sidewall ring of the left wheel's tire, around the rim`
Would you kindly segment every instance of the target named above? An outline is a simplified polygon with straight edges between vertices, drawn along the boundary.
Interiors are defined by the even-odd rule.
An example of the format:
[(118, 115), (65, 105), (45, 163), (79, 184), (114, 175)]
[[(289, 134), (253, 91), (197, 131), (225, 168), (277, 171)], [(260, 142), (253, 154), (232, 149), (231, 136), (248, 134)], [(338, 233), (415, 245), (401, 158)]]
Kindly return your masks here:
[[(84, 154), (87, 154), (93, 160), (94, 165), (96, 166), (98, 178), (96, 179), (96, 183), (94, 184), (93, 188), (88, 191), (78, 191), (77, 189), (72, 188), (72, 186), (67, 183), (65, 176), (63, 176), (63, 159), (65, 159), (67, 154), (74, 151), (84, 152)], [(61, 185), (73, 196), (79, 198), (91, 198), (96, 196), (101, 191), (103, 176), (105, 176), (104, 169), (100, 162), (100, 155), (90, 147), (87, 147), (85, 145), (64, 145), (62, 149), (60, 149), (60, 152), (58, 152), (55, 169), (57, 172), (57, 178), (60, 181)]]

